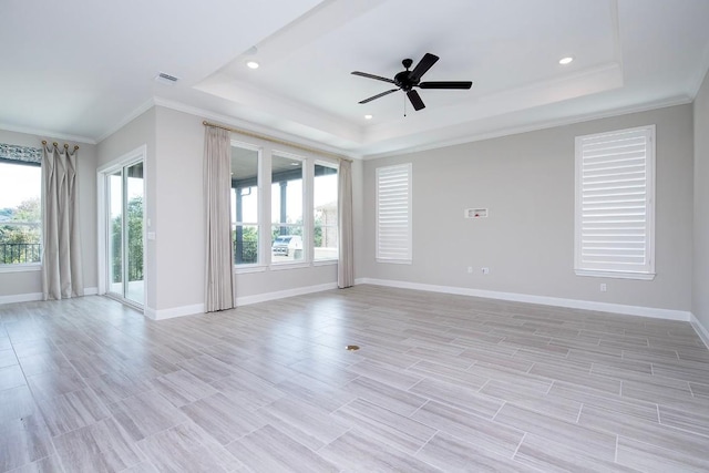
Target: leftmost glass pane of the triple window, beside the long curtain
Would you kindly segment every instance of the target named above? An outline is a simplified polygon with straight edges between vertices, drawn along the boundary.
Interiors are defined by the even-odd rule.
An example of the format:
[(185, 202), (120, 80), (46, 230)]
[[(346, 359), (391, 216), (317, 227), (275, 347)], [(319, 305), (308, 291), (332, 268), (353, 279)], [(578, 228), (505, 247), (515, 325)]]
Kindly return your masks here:
[(258, 258), (258, 164), (256, 148), (232, 146), (232, 232), (234, 264), (254, 265)]

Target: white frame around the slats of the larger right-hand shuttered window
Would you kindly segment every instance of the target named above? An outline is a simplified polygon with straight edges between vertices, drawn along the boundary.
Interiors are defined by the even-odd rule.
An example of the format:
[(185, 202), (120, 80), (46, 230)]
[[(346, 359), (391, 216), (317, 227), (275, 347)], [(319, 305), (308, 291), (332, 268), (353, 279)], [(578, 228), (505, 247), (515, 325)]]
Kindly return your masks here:
[[(625, 135), (625, 136), (624, 136)], [(584, 224), (589, 222), (584, 218), (584, 144), (607, 143), (612, 138), (620, 137), (645, 137), (645, 155), (644, 155), (644, 203), (643, 210), (645, 216), (645, 228), (641, 237), (644, 239), (643, 255), (645, 257), (644, 263), (630, 264), (623, 263), (620, 258), (629, 258), (630, 255), (618, 255), (618, 260), (603, 261), (603, 263), (587, 263), (584, 260), (584, 249), (588, 249), (584, 245)], [(577, 276), (589, 277), (605, 277), (605, 278), (620, 278), (620, 279), (638, 279), (638, 280), (653, 280), (656, 275), (655, 269), (655, 199), (656, 199), (656, 126), (645, 125), (625, 130), (614, 130), (602, 133), (594, 133), (584, 136), (576, 136), (575, 140), (575, 207), (574, 207), (574, 271)], [(625, 160), (630, 157), (625, 156)], [(618, 160), (624, 160), (619, 156)], [(626, 164), (627, 165), (627, 164)], [(620, 171), (619, 171), (620, 172)], [(613, 177), (614, 175), (606, 176)], [(623, 178), (621, 175), (616, 175), (618, 178)], [(628, 197), (630, 198), (630, 197)], [(588, 204), (588, 202), (586, 202)], [(613, 204), (626, 204), (631, 205), (629, 202), (614, 202)], [(636, 208), (638, 203), (636, 202)], [(618, 208), (616, 208), (617, 210)], [(627, 210), (626, 210), (627, 212)], [(594, 216), (598, 218), (597, 216)], [(588, 217), (590, 218), (590, 217)], [(612, 220), (608, 220), (612, 222)], [(596, 222), (597, 223), (597, 222)], [(617, 230), (615, 230), (617, 232)], [(609, 235), (613, 237), (613, 235)], [(628, 236), (619, 236), (620, 238)], [(609, 243), (609, 241), (604, 241)], [(609, 255), (606, 255), (609, 256)], [(612, 258), (612, 257), (610, 257)], [(608, 259), (610, 259), (608, 258)], [(625, 266), (625, 268), (623, 268)]]

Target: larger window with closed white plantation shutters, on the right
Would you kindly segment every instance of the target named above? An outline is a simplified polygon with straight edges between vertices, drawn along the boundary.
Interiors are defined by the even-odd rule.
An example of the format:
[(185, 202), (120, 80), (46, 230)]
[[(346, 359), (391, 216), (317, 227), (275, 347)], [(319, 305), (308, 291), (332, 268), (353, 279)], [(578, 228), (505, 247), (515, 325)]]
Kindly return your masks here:
[(576, 137), (575, 269), (655, 277), (655, 125)]

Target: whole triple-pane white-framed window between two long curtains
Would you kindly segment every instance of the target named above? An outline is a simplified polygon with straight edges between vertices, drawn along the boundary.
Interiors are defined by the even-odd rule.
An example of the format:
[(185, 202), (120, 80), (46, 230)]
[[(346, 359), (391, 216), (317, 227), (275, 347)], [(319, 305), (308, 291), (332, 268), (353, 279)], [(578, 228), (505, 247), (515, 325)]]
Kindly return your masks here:
[(236, 268), (251, 273), (337, 260), (337, 164), (261, 146), (232, 142)]

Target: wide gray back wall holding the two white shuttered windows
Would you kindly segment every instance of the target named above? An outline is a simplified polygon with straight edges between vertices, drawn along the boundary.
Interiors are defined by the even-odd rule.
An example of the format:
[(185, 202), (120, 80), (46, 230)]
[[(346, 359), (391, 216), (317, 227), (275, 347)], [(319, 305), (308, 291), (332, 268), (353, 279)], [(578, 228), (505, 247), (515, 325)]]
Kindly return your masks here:
[[(574, 137), (647, 124), (657, 125), (657, 277), (575, 276)], [(413, 264), (378, 264), (374, 169), (405, 162), (413, 163)], [(690, 310), (691, 105), (367, 161), (363, 178), (363, 277)], [(471, 207), (490, 217), (464, 219)]]

